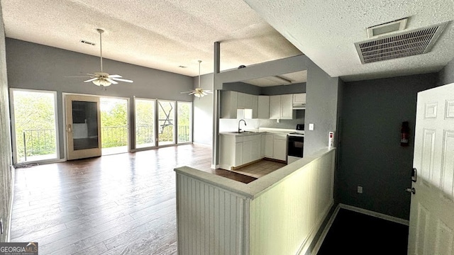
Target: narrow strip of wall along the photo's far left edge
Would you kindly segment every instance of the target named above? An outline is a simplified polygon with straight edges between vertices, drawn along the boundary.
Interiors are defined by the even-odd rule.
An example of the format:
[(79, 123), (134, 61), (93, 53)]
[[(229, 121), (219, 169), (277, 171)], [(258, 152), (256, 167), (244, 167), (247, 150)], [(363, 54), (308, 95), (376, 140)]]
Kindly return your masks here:
[(4, 224), (4, 234), (0, 234), (0, 242), (9, 241), (11, 227), (11, 200), (13, 174), (10, 171), (11, 136), (9, 128), (9, 97), (8, 79), (6, 78), (6, 49), (3, 14), (0, 5), (0, 219)]

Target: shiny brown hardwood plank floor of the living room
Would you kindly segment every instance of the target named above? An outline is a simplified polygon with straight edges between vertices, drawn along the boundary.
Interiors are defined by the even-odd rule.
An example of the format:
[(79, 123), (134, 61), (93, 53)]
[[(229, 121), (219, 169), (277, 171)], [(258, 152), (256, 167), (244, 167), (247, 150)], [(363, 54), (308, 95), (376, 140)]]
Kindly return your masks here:
[(16, 169), (11, 242), (38, 242), (40, 254), (177, 254), (175, 172), (210, 169), (197, 145)]

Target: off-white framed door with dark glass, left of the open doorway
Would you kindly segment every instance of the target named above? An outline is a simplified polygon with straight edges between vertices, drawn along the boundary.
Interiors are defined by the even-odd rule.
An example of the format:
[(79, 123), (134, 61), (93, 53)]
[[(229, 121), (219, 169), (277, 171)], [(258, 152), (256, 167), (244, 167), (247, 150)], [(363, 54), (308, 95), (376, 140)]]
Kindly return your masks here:
[(99, 97), (67, 95), (67, 159), (101, 156)]

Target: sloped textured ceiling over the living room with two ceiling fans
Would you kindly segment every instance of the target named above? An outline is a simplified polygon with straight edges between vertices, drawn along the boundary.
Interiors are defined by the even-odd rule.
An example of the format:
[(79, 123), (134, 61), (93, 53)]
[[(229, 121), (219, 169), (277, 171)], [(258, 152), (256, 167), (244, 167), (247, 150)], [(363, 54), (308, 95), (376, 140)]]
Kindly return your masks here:
[(242, 0), (1, 0), (1, 6), (9, 38), (99, 56), (102, 28), (103, 57), (192, 77), (197, 60), (201, 74), (213, 72), (216, 41), (221, 70), (301, 54)]

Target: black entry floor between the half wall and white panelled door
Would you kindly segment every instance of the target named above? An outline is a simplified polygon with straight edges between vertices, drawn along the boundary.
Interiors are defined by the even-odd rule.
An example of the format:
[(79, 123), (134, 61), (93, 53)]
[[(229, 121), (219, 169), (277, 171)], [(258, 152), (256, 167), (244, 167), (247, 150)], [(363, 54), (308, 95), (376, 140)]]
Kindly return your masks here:
[(406, 225), (341, 209), (317, 255), (405, 255), (408, 234)]

